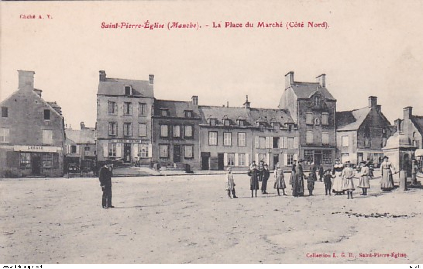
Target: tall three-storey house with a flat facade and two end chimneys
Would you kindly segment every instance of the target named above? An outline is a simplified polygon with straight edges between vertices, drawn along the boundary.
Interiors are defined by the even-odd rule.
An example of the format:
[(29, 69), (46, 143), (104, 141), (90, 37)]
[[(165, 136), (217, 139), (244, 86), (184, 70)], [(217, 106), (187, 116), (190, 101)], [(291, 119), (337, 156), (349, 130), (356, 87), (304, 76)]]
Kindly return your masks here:
[(154, 75), (148, 80), (106, 77), (99, 72), (97, 91), (97, 160), (122, 160), (150, 165)]

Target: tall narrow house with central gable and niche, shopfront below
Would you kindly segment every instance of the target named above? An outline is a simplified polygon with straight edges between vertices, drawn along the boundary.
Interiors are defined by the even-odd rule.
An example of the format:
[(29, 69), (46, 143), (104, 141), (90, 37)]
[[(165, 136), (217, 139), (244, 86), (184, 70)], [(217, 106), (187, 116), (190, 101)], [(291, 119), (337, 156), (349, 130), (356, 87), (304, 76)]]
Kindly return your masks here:
[(317, 82), (297, 82), (294, 72), (288, 72), (279, 108), (289, 111), (300, 130), (299, 156), (305, 159), (305, 165), (314, 162), (330, 167), (336, 148), (336, 99), (326, 88), (326, 75), (316, 79)]

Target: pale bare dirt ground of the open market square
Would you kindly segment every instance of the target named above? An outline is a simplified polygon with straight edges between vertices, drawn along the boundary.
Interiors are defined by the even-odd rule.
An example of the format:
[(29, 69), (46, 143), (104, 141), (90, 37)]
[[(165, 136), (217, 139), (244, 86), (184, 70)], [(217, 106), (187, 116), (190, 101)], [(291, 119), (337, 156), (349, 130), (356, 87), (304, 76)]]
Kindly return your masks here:
[(316, 182), (296, 198), (271, 178), (251, 198), (235, 175), (229, 199), (224, 175), (112, 182), (115, 208), (102, 209), (97, 178), (0, 181), (0, 264), (423, 263), (422, 189), (381, 192), (374, 179), (348, 200)]

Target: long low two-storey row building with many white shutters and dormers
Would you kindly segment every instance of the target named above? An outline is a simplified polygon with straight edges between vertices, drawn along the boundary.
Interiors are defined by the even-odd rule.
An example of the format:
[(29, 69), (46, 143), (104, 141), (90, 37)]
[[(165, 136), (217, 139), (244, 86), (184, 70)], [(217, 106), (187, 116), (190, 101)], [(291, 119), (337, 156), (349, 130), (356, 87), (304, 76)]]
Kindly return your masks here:
[(298, 135), (288, 110), (200, 106), (202, 170), (247, 170), (251, 162), (288, 169), (298, 158)]

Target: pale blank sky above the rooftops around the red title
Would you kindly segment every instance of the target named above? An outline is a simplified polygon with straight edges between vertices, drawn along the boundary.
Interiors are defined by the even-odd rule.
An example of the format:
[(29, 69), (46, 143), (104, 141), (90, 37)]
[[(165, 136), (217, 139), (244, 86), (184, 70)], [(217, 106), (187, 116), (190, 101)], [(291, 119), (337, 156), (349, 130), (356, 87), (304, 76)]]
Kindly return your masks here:
[[(419, 0), (0, 1), (0, 15), (0, 100), (16, 91), (16, 70), (35, 71), (35, 87), (58, 102), (74, 129), (81, 121), (95, 126), (99, 70), (137, 80), (154, 74), (157, 99), (197, 95), (200, 105), (242, 106), (248, 95), (252, 107), (268, 108), (277, 107), (289, 71), (304, 82), (324, 73), (338, 111), (365, 107), (368, 96), (377, 96), (391, 124), (403, 107), (423, 115)], [(164, 28), (101, 28), (147, 20)], [(309, 21), (328, 27), (310, 28)], [(201, 28), (169, 30), (172, 22)]]

